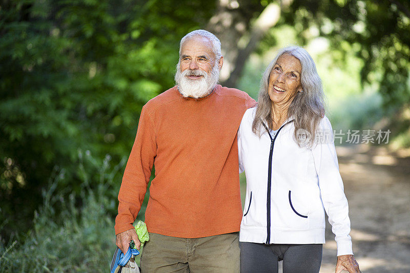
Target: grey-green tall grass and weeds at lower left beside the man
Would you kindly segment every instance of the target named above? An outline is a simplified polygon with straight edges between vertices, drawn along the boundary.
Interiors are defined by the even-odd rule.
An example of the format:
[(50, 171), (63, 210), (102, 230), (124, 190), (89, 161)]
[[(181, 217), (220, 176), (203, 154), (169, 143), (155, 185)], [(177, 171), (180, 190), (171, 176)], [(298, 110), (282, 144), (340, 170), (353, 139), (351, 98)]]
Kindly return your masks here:
[[(56, 172), (43, 191), (43, 205), (35, 213), (33, 227), (25, 238), (17, 236), (7, 245), (0, 241), (0, 272), (108, 270), (115, 250), (112, 211), (117, 207), (112, 179), (121, 166), (111, 167), (107, 156), (97, 169), (86, 172), (85, 163), (96, 163), (87, 154), (78, 167), (84, 178), (80, 194), (71, 188), (59, 190), (66, 178), (63, 170)], [(121, 162), (124, 163), (125, 160)], [(98, 182), (93, 190), (92, 182)]]

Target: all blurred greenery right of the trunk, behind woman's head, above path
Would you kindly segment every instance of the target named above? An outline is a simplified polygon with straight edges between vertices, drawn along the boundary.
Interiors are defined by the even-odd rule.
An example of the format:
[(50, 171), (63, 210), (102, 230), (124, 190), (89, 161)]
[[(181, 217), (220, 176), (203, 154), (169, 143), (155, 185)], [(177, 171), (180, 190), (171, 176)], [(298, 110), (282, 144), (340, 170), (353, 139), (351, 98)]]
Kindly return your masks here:
[[(294, 0), (289, 8), (283, 7), (277, 26), (268, 31), (256, 53), (271, 60), (284, 46), (305, 47), (322, 78), (334, 129), (384, 124), (394, 129), (392, 138), (400, 137), (395, 142), (400, 143), (395, 145), (398, 149), (408, 146), (408, 130), (395, 125), (394, 113), (410, 101), (409, 29), (408, 1)], [(257, 89), (254, 76), (248, 77), (258, 74), (255, 67), (243, 73), (241, 87), (246, 90)]]

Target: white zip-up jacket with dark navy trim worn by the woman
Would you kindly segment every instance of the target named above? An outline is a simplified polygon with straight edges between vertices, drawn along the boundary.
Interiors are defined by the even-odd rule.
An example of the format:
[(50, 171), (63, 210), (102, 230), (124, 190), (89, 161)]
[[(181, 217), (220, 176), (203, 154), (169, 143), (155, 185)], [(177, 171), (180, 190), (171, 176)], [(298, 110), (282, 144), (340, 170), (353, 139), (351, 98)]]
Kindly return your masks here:
[(265, 128), (252, 132), (256, 108), (248, 109), (238, 131), (239, 171), (247, 194), (240, 225), (241, 242), (267, 244), (324, 243), (324, 212), (329, 216), (337, 255), (353, 254), (347, 199), (329, 119), (319, 123), (312, 148), (294, 140), (292, 118), (276, 136)]

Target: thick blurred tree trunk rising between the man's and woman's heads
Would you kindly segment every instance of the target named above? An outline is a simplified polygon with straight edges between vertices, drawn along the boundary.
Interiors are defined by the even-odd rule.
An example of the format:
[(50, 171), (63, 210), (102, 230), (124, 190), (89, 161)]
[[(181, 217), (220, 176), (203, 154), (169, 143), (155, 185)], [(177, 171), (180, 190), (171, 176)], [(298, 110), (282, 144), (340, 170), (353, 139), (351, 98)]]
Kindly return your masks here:
[[(292, 1), (282, 1), (281, 6), (289, 7)], [(263, 8), (259, 3), (249, 2), (219, 0), (217, 12), (207, 26), (222, 44), (220, 81), (227, 87), (237, 87), (246, 60), (280, 18), (279, 4), (271, 3)]]

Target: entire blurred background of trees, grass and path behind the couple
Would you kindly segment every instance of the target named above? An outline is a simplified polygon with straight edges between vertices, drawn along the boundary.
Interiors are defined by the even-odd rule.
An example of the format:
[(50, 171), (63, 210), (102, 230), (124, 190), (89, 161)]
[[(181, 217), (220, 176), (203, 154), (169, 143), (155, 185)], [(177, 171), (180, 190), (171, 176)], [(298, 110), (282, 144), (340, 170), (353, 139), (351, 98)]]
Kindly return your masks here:
[[(407, 0), (2, 0), (0, 272), (108, 270), (141, 108), (174, 86), (195, 29), (221, 40), (222, 85), (255, 99), (278, 49), (308, 50), (340, 136), (356, 259), (410, 272)], [(334, 272), (333, 237), (328, 226), (321, 272)]]

